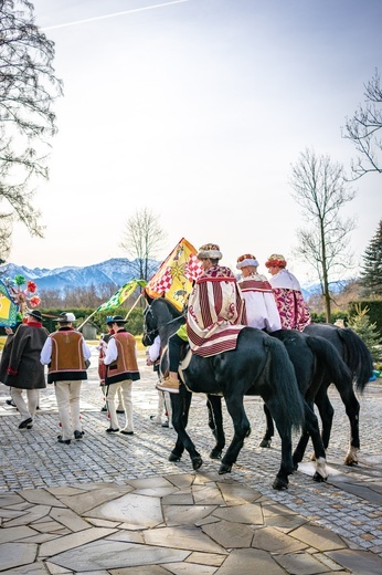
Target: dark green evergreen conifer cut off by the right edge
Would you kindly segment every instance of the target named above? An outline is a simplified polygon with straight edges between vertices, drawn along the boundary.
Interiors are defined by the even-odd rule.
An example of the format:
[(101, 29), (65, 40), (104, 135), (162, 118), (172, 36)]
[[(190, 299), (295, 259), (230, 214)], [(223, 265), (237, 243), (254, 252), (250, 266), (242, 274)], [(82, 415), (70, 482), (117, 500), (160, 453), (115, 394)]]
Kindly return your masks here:
[(363, 295), (382, 296), (382, 220), (364, 251), (363, 261), (361, 272)]

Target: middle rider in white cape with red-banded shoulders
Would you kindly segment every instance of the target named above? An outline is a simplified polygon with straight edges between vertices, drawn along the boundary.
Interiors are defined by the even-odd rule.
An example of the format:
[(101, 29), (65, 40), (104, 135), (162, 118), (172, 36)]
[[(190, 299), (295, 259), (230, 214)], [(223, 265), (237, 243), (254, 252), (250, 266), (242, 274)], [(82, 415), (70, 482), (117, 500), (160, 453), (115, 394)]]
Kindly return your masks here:
[(257, 330), (276, 332), (282, 328), (272, 285), (265, 275), (257, 273), (258, 261), (252, 253), (237, 258), (237, 270), (243, 279), (238, 282), (245, 300), (247, 324)]

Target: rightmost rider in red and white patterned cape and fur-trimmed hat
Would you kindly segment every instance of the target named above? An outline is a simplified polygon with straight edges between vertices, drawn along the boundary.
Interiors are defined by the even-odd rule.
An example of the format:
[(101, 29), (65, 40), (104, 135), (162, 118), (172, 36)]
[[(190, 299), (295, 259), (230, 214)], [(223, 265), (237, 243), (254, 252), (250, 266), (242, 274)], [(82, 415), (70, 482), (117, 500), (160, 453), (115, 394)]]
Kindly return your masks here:
[(310, 312), (297, 278), (286, 270), (286, 264), (280, 253), (273, 253), (265, 262), (272, 275), (269, 283), (282, 320), (282, 328), (303, 332), (304, 327), (311, 323)]

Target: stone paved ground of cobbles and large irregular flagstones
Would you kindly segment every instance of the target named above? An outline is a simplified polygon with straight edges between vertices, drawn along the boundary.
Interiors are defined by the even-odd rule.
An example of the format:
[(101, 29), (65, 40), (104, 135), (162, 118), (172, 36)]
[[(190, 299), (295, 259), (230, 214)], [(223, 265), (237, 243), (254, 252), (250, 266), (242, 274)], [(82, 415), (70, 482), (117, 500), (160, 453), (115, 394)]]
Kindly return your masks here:
[[(93, 360), (96, 365), (95, 359)], [(139, 359), (135, 435), (109, 437), (96, 368), (83, 385), (85, 437), (56, 442), (54, 390), (41, 394), (30, 431), (0, 385), (0, 573), (246, 575), (382, 573), (382, 386), (361, 398), (360, 464), (347, 468), (349, 426), (336, 390), (327, 483), (311, 480), (307, 453), (289, 489), (272, 489), (277, 438), (261, 449), (262, 400), (248, 398), (253, 425), (237, 464), (219, 475), (209, 459), (205, 400), (193, 398), (189, 431), (203, 457), (170, 463), (173, 429), (150, 420), (155, 374)], [(124, 416), (120, 415), (120, 422)], [(225, 415), (227, 440), (232, 433)]]

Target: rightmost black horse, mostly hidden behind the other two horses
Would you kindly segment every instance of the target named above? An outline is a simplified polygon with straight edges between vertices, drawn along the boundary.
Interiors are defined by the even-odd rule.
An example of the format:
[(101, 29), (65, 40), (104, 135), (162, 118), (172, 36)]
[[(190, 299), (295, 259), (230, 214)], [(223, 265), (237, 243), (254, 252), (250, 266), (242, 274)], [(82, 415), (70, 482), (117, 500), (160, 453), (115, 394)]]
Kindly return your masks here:
[[(296, 334), (296, 332), (291, 331), (291, 334), (294, 333)], [(277, 337), (277, 334), (278, 332), (275, 332), (273, 335)], [(330, 360), (330, 356), (328, 355), (328, 359), (326, 360), (327, 368), (321, 375), (322, 381), (321, 385), (318, 386), (314, 401), (318, 408), (320, 419), (322, 422), (321, 437), (325, 450), (327, 450), (329, 446), (332, 419), (335, 414), (333, 407), (328, 397), (328, 387), (330, 384), (335, 384), (344, 404), (346, 411), (350, 422), (350, 446), (344, 459), (344, 463), (348, 466), (358, 463), (357, 452), (360, 448), (360, 404), (356, 397), (353, 384), (356, 384), (357, 389), (361, 393), (364, 390), (364, 386), (369, 381), (372, 373), (373, 364), (371, 354), (364, 342), (361, 339), (361, 337), (359, 337), (359, 335), (357, 335), (356, 332), (353, 332), (350, 328), (337, 327), (336, 325), (331, 324), (312, 323), (304, 330), (303, 334), (305, 336), (308, 335), (315, 337), (318, 336), (318, 338), (325, 338), (336, 348), (340, 358), (342, 359), (342, 362), (344, 362), (344, 364), (351, 372), (351, 377), (349, 377), (349, 373), (347, 374), (346, 372), (343, 372), (343, 369), (341, 369), (343, 372), (341, 375), (341, 373), (338, 372), (338, 358), (337, 360), (335, 360), (335, 357), (332, 360)], [(282, 338), (284, 338), (285, 344), (288, 344), (289, 337), (291, 337), (290, 332), (287, 330), (283, 331)], [(289, 342), (289, 349), (291, 349), (291, 347), (293, 346)], [(298, 356), (296, 356), (295, 360), (293, 359), (293, 363), (296, 367), (296, 364), (299, 363)], [(261, 447), (270, 447), (272, 437), (274, 436), (274, 425), (266, 406), (264, 406), (264, 411), (266, 415), (267, 428), (264, 438), (261, 442)], [(306, 437), (305, 440), (307, 442), (308, 438)], [(297, 461), (301, 457), (301, 451), (304, 451), (303, 442), (299, 445), (297, 450), (297, 453), (295, 451), (294, 454), (295, 461)], [(317, 454), (315, 454), (315, 457), (316, 456)]]

